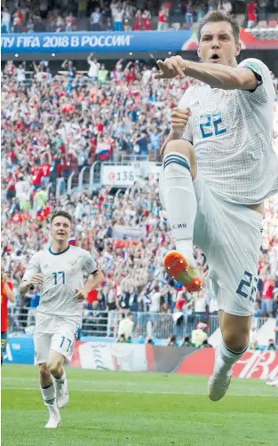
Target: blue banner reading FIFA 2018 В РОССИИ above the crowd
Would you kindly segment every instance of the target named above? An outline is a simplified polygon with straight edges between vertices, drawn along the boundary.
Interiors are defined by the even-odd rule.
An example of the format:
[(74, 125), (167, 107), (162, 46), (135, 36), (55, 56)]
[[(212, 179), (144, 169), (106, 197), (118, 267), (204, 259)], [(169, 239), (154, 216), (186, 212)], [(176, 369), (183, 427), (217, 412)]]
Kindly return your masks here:
[(191, 36), (191, 30), (2, 34), (1, 48), (2, 54), (180, 51), (195, 49)]

